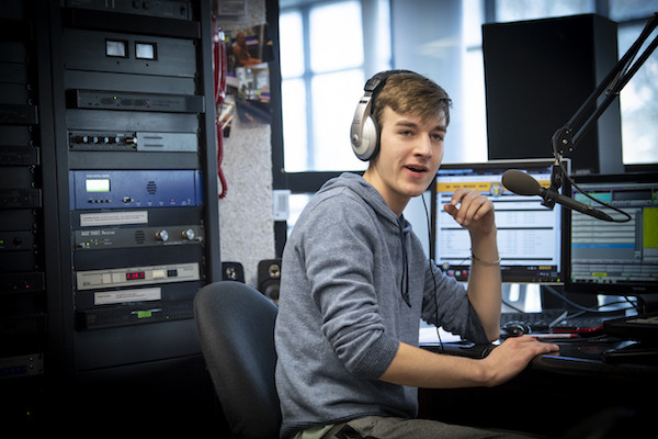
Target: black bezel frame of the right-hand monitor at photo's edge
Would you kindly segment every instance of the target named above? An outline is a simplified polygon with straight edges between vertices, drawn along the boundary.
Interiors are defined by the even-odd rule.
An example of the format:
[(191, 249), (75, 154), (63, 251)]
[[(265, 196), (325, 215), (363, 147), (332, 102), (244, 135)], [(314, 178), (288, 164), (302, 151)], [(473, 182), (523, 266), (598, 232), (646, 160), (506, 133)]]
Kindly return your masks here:
[[(613, 173), (613, 175), (585, 175), (585, 176), (572, 176), (571, 179), (576, 184), (580, 183), (619, 183), (619, 182), (658, 182), (658, 175), (655, 172), (626, 172), (626, 173)], [(570, 185), (567, 188), (566, 194), (572, 196), (572, 189)], [(595, 205), (594, 205), (595, 207)], [(567, 211), (568, 227), (564, 227), (564, 239), (566, 246), (563, 248), (564, 261), (565, 261), (565, 293), (581, 293), (590, 295), (614, 295), (614, 296), (643, 296), (646, 294), (658, 294), (658, 282), (654, 285), (645, 283), (586, 283), (586, 282), (572, 282), (571, 281), (571, 212)], [(620, 216), (620, 215), (617, 215)], [(614, 217), (614, 215), (613, 215)], [(653, 286), (653, 289), (651, 289)]]

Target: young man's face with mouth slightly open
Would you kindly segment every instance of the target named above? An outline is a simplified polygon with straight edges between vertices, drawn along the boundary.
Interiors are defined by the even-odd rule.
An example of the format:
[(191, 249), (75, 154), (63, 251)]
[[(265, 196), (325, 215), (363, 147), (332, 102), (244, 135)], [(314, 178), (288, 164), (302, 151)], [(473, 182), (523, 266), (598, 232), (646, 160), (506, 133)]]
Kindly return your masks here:
[[(379, 153), (371, 164), (368, 181), (396, 213), (432, 182), (443, 159), (446, 126), (443, 112), (423, 122), (412, 114), (385, 108)], [(400, 209), (401, 207), (401, 209)], [(399, 211), (399, 212), (398, 212)]]

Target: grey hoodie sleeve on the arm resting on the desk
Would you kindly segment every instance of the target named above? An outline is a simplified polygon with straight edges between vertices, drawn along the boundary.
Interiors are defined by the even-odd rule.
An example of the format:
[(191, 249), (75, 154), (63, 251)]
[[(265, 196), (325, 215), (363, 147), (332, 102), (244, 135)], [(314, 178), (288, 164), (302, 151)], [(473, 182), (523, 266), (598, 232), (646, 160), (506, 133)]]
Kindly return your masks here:
[(349, 196), (325, 200), (315, 207), (315, 233), (307, 235), (303, 249), (325, 337), (350, 373), (376, 379), (399, 344), (386, 334), (373, 286), (378, 244), (372, 215)]

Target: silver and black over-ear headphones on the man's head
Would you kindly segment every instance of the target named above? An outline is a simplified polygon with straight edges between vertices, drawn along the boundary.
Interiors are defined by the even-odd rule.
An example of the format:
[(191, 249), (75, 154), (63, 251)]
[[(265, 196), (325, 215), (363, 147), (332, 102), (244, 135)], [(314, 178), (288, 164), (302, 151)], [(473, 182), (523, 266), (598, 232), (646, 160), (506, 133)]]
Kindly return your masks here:
[(397, 74), (418, 75), (410, 70), (381, 71), (368, 79), (363, 87), (365, 93), (356, 105), (350, 128), (352, 149), (360, 160), (367, 161), (377, 155), (379, 127), (377, 126), (377, 121), (373, 117), (373, 102), (384, 88), (386, 80)]

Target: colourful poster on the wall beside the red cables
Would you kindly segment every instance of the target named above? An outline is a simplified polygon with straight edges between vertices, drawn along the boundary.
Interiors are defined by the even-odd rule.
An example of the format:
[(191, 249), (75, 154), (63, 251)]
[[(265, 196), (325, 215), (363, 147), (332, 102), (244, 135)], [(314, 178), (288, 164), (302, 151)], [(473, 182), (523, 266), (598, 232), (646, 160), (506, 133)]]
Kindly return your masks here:
[(270, 67), (273, 59), (272, 41), (268, 25), (228, 32), (228, 92), (235, 97), (235, 109), (240, 123), (263, 125), (271, 123)]

